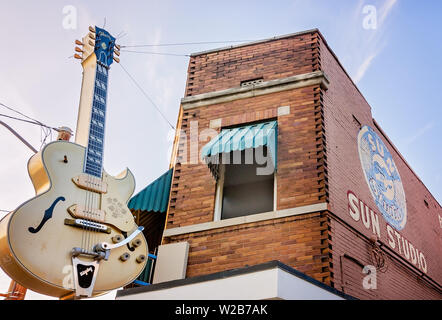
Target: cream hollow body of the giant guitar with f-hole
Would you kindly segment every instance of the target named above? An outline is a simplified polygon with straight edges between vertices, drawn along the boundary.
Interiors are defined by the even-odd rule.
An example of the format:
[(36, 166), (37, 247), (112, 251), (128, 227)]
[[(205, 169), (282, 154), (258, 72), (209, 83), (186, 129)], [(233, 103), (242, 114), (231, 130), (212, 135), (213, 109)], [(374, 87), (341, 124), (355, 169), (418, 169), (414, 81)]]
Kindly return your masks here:
[[(0, 221), (0, 266), (22, 286), (33, 291), (62, 297), (74, 288), (72, 253), (74, 247), (92, 246), (99, 242), (113, 244), (112, 238), (124, 239), (137, 229), (127, 202), (135, 188), (129, 170), (118, 177), (103, 172), (107, 192), (88, 191), (74, 183), (83, 173), (86, 148), (67, 141), (47, 144), (28, 162), (28, 172), (36, 197), (23, 203)], [(91, 200), (93, 199), (93, 200)], [(104, 222), (110, 233), (85, 230), (66, 225), (65, 219), (76, 219), (68, 210), (73, 205), (89, 205), (105, 212)], [(106, 293), (132, 282), (145, 268), (147, 242), (140, 233), (130, 243), (110, 250), (108, 260), (101, 260), (92, 296)], [(141, 243), (141, 244), (140, 244)], [(128, 253), (123, 261), (120, 257)], [(93, 261), (88, 256), (79, 256)]]

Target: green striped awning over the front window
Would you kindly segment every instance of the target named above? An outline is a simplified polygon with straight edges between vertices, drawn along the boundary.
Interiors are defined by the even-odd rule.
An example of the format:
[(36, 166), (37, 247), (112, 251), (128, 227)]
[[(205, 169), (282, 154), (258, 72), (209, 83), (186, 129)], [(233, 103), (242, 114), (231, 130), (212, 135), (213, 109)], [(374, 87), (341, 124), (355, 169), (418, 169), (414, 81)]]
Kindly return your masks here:
[(210, 163), (214, 156), (221, 153), (265, 146), (276, 169), (277, 127), (277, 121), (269, 121), (238, 128), (223, 129), (202, 148), (201, 158), (206, 163)]

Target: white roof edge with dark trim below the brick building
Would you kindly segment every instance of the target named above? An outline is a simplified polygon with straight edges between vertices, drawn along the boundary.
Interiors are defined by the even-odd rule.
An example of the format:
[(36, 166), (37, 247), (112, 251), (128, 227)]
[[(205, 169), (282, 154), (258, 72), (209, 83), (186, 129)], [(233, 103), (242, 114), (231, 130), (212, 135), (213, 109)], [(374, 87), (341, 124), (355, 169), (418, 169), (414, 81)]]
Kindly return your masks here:
[(117, 300), (354, 299), (279, 261), (119, 290)]

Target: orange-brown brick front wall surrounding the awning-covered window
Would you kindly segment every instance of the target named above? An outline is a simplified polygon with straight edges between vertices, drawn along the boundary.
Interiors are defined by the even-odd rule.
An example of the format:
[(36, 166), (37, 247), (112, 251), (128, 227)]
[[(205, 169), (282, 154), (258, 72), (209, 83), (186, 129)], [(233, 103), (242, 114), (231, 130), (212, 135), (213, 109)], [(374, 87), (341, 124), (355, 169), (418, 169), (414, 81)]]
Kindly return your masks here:
[[(250, 78), (268, 81), (316, 71), (318, 49), (318, 34), (308, 33), (192, 57), (187, 95), (239, 87)], [(197, 139), (190, 134), (194, 121), (201, 132), (216, 119), (222, 119), (223, 127), (277, 119), (277, 209), (326, 202), (321, 103), (321, 89), (313, 85), (183, 110), (178, 129), (184, 135), (177, 142), (166, 228), (214, 219), (215, 180), (206, 164), (189, 163), (200, 161), (201, 148), (209, 141), (199, 141), (196, 154), (189, 155), (190, 140)], [(290, 114), (278, 117), (280, 106), (290, 106)], [(179, 241), (190, 244), (187, 277), (280, 260), (325, 283), (330, 281), (327, 223), (321, 213), (167, 237), (163, 243)]]

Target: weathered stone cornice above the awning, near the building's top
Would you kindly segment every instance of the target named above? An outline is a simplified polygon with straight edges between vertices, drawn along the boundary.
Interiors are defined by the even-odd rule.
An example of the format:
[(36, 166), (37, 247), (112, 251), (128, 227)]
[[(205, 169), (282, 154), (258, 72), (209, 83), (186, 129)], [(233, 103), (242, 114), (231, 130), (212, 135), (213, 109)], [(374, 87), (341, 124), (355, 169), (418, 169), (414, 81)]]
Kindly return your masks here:
[(235, 87), (185, 97), (181, 99), (181, 105), (183, 106), (183, 110), (189, 110), (312, 85), (320, 85), (323, 89), (327, 90), (328, 84), (329, 80), (327, 75), (323, 71), (315, 71), (288, 78), (265, 81), (247, 87)]

